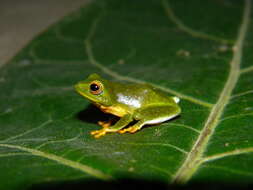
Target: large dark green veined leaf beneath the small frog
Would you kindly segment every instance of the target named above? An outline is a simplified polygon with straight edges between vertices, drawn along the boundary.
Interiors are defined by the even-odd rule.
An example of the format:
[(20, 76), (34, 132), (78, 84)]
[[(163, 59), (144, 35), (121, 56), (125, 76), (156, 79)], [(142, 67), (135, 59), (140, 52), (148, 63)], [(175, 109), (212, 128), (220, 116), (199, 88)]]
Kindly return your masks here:
[[(0, 68), (0, 189), (89, 179), (253, 180), (251, 2), (101, 0)], [(251, 17), (250, 17), (251, 16)], [(94, 139), (90, 73), (181, 98), (180, 117)]]

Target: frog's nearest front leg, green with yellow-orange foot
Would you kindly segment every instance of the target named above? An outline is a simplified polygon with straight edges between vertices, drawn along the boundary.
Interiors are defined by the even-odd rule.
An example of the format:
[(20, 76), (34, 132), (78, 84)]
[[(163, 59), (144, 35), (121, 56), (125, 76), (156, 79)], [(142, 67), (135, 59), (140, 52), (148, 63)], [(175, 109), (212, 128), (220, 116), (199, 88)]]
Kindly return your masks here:
[(132, 115), (126, 114), (122, 118), (120, 118), (120, 120), (115, 125), (111, 127), (104, 127), (100, 130), (92, 131), (91, 135), (94, 135), (95, 138), (99, 138), (101, 136), (104, 136), (106, 133), (117, 132), (127, 126), (131, 121), (133, 121)]

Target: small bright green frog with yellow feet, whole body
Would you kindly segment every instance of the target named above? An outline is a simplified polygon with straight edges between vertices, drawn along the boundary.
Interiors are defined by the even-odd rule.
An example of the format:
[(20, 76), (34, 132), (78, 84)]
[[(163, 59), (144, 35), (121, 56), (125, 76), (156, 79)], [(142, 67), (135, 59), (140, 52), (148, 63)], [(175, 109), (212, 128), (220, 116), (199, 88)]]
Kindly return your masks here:
[[(91, 132), (95, 138), (108, 132), (134, 133), (146, 124), (162, 123), (181, 112), (178, 97), (169, 97), (148, 84), (111, 82), (91, 74), (76, 84), (75, 89), (103, 112), (120, 117), (113, 126), (111, 121), (98, 122), (103, 128)], [(136, 124), (125, 128), (132, 121)]]

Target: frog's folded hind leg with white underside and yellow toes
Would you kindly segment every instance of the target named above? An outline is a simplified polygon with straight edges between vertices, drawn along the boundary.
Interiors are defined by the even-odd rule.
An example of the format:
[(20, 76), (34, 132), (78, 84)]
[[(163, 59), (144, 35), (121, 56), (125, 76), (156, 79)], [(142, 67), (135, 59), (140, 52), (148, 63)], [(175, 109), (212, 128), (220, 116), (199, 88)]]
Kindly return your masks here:
[(148, 106), (141, 108), (134, 114), (134, 119), (138, 120), (136, 124), (126, 129), (118, 131), (119, 133), (135, 133), (144, 125), (152, 125), (168, 121), (180, 113), (180, 108), (174, 106)]

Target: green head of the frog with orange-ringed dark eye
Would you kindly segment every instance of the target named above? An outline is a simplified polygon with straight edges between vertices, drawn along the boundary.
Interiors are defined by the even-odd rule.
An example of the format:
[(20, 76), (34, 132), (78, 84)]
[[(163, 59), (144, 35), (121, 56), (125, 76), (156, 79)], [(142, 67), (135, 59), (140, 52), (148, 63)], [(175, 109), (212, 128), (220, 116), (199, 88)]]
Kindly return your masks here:
[(76, 91), (93, 103), (110, 106), (110, 86), (107, 80), (98, 74), (91, 74), (86, 80), (75, 85)]

